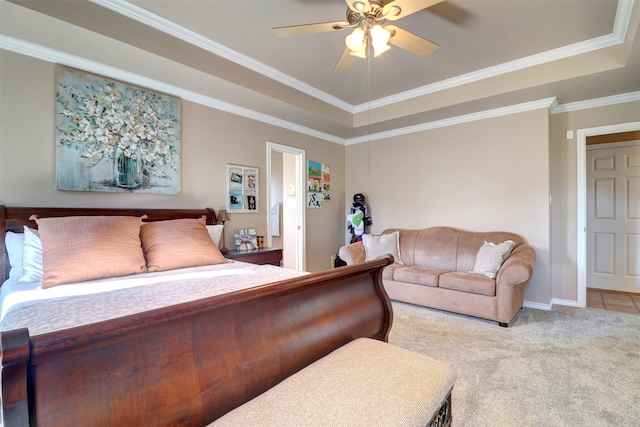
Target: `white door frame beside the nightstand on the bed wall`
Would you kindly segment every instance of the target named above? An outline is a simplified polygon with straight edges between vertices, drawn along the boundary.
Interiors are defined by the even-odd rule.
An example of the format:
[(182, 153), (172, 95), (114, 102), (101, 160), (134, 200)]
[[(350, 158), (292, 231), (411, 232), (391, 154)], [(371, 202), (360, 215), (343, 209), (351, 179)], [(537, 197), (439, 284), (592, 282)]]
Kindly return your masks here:
[(288, 153), (295, 156), (296, 167), (296, 270), (306, 271), (307, 268), (307, 251), (306, 251), (306, 152), (303, 149), (289, 147), (287, 145), (277, 144), (267, 141), (267, 246), (271, 246), (271, 154), (273, 152)]

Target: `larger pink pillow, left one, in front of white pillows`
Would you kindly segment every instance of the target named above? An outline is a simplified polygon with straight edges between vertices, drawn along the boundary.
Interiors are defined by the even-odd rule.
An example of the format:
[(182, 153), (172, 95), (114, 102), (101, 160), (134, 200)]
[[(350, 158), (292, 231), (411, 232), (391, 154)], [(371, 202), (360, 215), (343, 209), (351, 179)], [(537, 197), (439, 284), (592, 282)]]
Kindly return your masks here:
[(140, 217), (37, 218), (42, 241), (42, 287), (144, 273)]

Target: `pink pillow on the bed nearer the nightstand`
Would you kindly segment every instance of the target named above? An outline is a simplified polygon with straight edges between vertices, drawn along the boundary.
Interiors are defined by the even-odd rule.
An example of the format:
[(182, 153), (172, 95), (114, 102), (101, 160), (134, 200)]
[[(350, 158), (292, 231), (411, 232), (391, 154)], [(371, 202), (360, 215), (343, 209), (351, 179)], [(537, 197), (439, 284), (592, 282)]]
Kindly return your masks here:
[(140, 227), (140, 239), (149, 272), (228, 262), (204, 218), (148, 222)]

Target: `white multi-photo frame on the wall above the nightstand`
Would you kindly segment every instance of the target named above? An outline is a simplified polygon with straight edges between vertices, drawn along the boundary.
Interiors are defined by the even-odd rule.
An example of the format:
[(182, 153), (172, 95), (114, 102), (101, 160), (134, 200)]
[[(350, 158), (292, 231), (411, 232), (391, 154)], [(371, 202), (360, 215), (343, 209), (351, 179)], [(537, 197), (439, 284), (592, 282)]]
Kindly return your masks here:
[(260, 212), (260, 169), (255, 166), (227, 164), (226, 168), (227, 212)]

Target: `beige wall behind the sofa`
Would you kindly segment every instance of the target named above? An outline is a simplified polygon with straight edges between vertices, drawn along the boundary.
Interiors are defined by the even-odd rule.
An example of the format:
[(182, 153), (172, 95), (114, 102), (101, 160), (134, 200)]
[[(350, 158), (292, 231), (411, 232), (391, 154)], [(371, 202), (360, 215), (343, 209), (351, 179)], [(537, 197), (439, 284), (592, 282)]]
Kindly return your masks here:
[[(530, 302), (549, 303), (546, 109), (347, 147), (347, 198), (367, 196), (373, 226), (511, 231), (534, 246)], [(348, 207), (348, 206), (347, 206)]]

